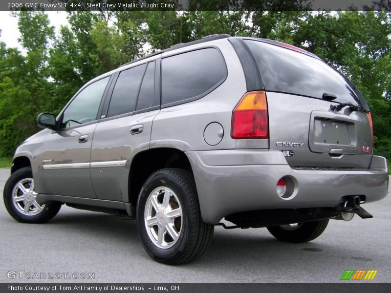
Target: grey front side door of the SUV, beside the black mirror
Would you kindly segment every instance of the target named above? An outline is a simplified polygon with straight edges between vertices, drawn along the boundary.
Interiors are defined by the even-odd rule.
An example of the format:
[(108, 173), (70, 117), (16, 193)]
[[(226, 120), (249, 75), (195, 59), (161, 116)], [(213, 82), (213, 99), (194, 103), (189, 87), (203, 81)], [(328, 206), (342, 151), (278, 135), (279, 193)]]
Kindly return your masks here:
[[(38, 158), (40, 192), (96, 198), (90, 178), (91, 145), (109, 77), (84, 87), (66, 106), (59, 131), (47, 134)], [(42, 178), (42, 179), (41, 179)]]

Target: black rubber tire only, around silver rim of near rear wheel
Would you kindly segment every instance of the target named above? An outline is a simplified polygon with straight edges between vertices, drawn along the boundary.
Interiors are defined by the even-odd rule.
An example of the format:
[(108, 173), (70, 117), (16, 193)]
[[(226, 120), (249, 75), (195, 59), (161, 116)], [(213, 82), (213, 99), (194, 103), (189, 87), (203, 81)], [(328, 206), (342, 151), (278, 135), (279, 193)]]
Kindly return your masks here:
[[(176, 242), (173, 240), (173, 246), (169, 248), (160, 248), (158, 244), (152, 241), (151, 232), (149, 232), (151, 229), (147, 230), (145, 221), (145, 209), (148, 209), (147, 200), (152, 192), (159, 190), (159, 188), (172, 190), (174, 195), (170, 195), (170, 198), (173, 199), (175, 196), (179, 200), (180, 206), (178, 207), (182, 210), (180, 216), (181, 226), (180, 230), (177, 231), (177, 240)], [(160, 194), (165, 195), (165, 193)], [(163, 209), (163, 205), (164, 202), (161, 203), (161, 209)], [(155, 218), (158, 220), (157, 211)], [(157, 228), (159, 230), (160, 228), (157, 225), (153, 226), (153, 229), (156, 230)], [(189, 171), (179, 168), (167, 168), (158, 170), (149, 176), (141, 188), (137, 202), (137, 228), (145, 250), (158, 262), (168, 265), (179, 265), (194, 261), (202, 255), (212, 238), (214, 226), (205, 224), (202, 221), (194, 178)], [(158, 240), (156, 243), (158, 243)]]

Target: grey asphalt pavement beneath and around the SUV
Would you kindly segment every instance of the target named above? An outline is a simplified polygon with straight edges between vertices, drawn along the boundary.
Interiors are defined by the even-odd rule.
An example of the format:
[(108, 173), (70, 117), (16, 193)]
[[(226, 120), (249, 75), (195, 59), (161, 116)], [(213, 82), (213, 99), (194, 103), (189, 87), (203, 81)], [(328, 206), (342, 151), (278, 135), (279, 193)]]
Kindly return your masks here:
[[(1, 194), (9, 173), (0, 169)], [(0, 282), (342, 282), (345, 270), (377, 270), (369, 282), (391, 282), (391, 196), (363, 207), (372, 219), (330, 220), (303, 244), (279, 242), (266, 229), (216, 227), (200, 259), (167, 266), (144, 251), (132, 219), (63, 206), (46, 224), (22, 224), (0, 200)]]

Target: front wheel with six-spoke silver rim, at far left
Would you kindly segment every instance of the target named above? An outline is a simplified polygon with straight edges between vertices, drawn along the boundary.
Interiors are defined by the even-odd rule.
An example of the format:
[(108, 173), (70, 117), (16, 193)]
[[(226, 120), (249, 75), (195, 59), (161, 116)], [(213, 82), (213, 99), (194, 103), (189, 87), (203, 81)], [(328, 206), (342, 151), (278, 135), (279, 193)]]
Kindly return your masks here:
[(61, 208), (61, 203), (41, 205), (37, 201), (30, 167), (16, 170), (4, 186), (4, 205), (9, 214), (22, 223), (45, 223)]

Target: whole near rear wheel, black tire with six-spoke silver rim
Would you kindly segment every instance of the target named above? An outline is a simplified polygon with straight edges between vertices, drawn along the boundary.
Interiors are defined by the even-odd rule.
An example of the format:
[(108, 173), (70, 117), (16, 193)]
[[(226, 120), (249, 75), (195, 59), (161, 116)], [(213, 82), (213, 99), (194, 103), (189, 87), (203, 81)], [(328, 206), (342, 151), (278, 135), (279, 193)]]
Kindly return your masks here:
[(167, 168), (152, 173), (141, 188), (137, 228), (145, 250), (158, 262), (178, 265), (202, 255), (214, 226), (202, 221), (189, 171)]

